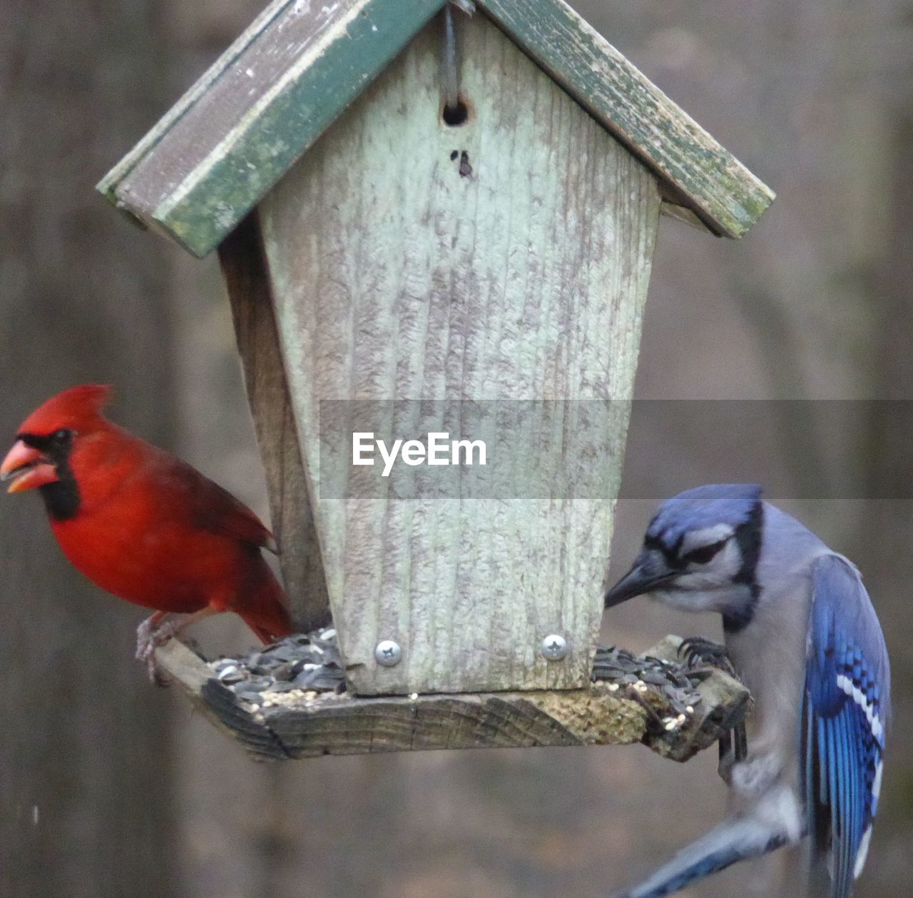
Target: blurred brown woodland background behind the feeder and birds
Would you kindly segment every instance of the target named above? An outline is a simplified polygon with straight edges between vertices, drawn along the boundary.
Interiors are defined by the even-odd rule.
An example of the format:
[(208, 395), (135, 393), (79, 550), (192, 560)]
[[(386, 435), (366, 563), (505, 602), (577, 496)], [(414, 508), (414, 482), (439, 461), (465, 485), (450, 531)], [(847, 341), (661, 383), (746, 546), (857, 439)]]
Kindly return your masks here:
[[(107, 381), (121, 423), (266, 513), (215, 259), (143, 235), (93, 192), (262, 3), (0, 5), (0, 442), (58, 389)], [(637, 395), (913, 398), (910, 0), (575, 5), (779, 195), (741, 243), (663, 221)], [(730, 437), (641, 408), (627, 495), (715, 479)], [(813, 497), (842, 495), (847, 471), (869, 495), (908, 495), (913, 422), (860, 403), (857, 427), (834, 432), (814, 405), (765, 408), (771, 448), (744, 447), (753, 478), (781, 484), (776, 500), (855, 559), (887, 632), (896, 724), (858, 894), (908, 895), (913, 501)], [(722, 813), (713, 753), (686, 766), (639, 746), (257, 766), (152, 689), (131, 660), (137, 609), (73, 572), (37, 497), (0, 501), (4, 896), (590, 898)], [(614, 575), (653, 504), (620, 502)], [(644, 601), (613, 611), (603, 635), (642, 650), (717, 626)], [(249, 639), (231, 621), (203, 635), (220, 650)], [(743, 865), (686, 894), (762, 883)]]

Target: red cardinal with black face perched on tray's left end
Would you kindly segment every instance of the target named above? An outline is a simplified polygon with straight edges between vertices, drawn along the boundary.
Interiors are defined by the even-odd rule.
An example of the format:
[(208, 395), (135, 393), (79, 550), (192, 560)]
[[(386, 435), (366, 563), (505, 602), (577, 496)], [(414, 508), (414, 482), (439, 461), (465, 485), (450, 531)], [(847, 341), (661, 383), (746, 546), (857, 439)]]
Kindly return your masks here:
[[(291, 632), (257, 515), (198, 470), (101, 416), (109, 386), (74, 386), (26, 417), (0, 465), (41, 491), (64, 555), (94, 584), (155, 608), (137, 657), (188, 624), (234, 611), (264, 642)], [(166, 619), (169, 615), (183, 617)]]

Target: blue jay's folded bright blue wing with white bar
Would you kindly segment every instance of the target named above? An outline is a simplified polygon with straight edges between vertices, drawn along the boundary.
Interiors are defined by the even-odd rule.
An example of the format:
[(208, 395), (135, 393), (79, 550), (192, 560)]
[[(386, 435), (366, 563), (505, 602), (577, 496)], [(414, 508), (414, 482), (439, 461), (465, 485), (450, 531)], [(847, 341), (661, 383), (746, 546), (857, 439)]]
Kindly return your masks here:
[(830, 853), (832, 898), (848, 898), (878, 805), (890, 671), (855, 567), (823, 555), (812, 576), (800, 763), (806, 827), (817, 858)]

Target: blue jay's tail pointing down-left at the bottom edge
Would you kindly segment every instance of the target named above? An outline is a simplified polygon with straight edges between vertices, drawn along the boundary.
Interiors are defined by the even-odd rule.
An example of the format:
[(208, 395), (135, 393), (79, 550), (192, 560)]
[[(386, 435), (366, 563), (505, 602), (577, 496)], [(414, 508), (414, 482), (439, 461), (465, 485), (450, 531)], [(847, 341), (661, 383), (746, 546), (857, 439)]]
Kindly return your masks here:
[(725, 820), (706, 836), (680, 850), (649, 879), (626, 892), (616, 893), (614, 898), (660, 898), (737, 861), (759, 857), (792, 844), (802, 835), (796, 827), (794, 812), (790, 809), (784, 817), (777, 819), (779, 816), (762, 813)]

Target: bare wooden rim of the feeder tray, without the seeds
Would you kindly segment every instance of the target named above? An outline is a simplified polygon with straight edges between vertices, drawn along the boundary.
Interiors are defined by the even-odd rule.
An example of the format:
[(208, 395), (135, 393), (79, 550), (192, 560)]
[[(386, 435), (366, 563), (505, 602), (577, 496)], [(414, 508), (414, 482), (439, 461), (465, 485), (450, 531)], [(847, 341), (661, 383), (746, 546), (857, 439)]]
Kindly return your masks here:
[(655, 696), (638, 702), (598, 681), (566, 692), (381, 698), (310, 693), (257, 708), (213, 679), (212, 669), (177, 639), (156, 650), (156, 658), (205, 717), (259, 759), (642, 742), (664, 757), (687, 761), (750, 710), (748, 690), (719, 670), (698, 687), (701, 701), (693, 717), (674, 730), (649, 724), (645, 704), (659, 718), (669, 713)]

